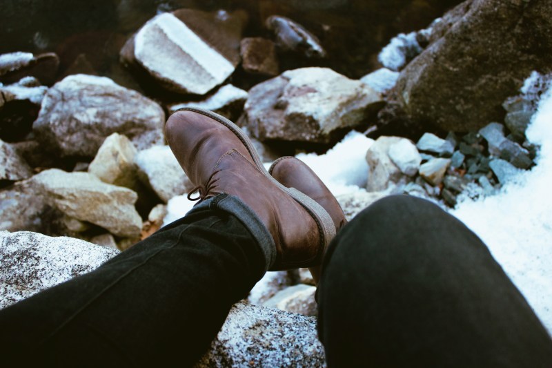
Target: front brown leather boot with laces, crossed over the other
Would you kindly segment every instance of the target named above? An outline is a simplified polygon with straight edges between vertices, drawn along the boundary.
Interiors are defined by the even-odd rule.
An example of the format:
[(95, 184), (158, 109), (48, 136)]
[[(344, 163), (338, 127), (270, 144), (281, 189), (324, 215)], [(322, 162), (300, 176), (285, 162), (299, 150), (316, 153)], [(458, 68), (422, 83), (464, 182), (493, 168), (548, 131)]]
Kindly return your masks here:
[(330, 215), (303, 193), (268, 174), (253, 144), (228, 119), (184, 108), (165, 126), (172, 153), (199, 189), (199, 199), (220, 193), (239, 197), (259, 217), (275, 242), (270, 271), (313, 267), (335, 236)]

